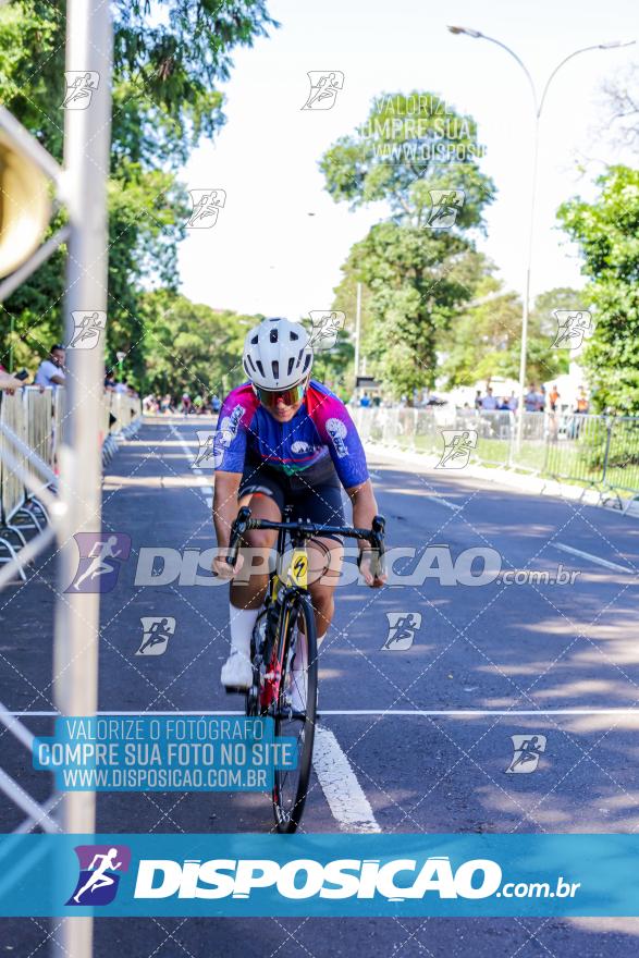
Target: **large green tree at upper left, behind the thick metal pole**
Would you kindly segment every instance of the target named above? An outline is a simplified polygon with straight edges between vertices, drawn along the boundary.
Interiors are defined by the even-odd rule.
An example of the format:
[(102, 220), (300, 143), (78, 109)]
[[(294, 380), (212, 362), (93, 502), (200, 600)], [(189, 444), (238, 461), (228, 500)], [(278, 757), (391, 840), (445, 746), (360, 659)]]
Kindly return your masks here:
[[(200, 137), (224, 122), (217, 86), (229, 78), (231, 50), (275, 24), (263, 0), (159, 0), (152, 8), (148, 0), (115, 0), (112, 11), (108, 352), (130, 352), (128, 369), (139, 381), (143, 280), (169, 288), (179, 281), (187, 202), (175, 172)], [(62, 0), (15, 0), (0, 11), (0, 99), (59, 161), (65, 27)], [(7, 342), (14, 324), (15, 355), (25, 365), (61, 337), (64, 253), (0, 311), (0, 337)]]

